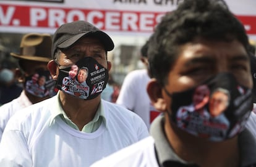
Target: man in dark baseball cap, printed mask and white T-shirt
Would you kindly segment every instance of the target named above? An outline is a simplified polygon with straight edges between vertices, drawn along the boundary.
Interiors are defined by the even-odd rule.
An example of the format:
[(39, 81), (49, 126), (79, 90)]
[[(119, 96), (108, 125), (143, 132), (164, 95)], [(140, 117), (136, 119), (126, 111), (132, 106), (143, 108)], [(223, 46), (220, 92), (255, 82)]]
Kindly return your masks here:
[[(0, 144), (0, 166), (90, 166), (148, 136), (138, 115), (101, 99), (113, 48), (106, 33), (85, 21), (56, 30), (48, 68), (59, 92), (12, 117)], [(67, 77), (72, 65), (88, 69), (87, 86)]]

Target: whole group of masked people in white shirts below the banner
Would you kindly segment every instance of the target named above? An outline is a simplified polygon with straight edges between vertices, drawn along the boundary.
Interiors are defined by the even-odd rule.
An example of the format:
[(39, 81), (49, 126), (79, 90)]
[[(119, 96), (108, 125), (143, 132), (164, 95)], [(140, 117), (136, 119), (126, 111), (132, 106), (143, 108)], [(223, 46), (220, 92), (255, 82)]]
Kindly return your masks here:
[(223, 0), (166, 13), (121, 88), (113, 49), (83, 20), (22, 37), (0, 69), (20, 88), (0, 107), (0, 166), (256, 166), (255, 50)]

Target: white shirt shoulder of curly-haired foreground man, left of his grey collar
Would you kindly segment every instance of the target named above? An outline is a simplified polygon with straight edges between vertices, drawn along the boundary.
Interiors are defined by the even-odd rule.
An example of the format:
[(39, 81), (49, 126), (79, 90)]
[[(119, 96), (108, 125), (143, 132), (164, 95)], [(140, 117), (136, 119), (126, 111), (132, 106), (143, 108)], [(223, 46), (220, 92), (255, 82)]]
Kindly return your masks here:
[(148, 166), (149, 161), (153, 161), (150, 166), (157, 165), (155, 160), (154, 139), (151, 136), (96, 161), (90, 167), (106, 166), (106, 164), (108, 164), (109, 167)]

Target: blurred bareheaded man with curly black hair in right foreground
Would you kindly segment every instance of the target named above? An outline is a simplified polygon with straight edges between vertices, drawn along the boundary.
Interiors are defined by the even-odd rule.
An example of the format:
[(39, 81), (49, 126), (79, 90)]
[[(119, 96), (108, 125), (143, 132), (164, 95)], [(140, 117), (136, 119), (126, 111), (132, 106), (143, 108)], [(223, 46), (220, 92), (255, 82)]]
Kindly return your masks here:
[[(147, 86), (163, 115), (151, 124), (150, 137), (92, 167), (256, 166), (256, 140), (245, 128), (253, 88), (248, 46), (244, 25), (223, 1), (185, 0), (164, 15), (150, 40)], [(194, 90), (203, 84), (210, 94), (228, 91), (228, 107), (222, 118), (199, 116), (180, 128), (178, 108), (192, 104)], [(204, 105), (209, 111), (208, 105), (209, 100)]]

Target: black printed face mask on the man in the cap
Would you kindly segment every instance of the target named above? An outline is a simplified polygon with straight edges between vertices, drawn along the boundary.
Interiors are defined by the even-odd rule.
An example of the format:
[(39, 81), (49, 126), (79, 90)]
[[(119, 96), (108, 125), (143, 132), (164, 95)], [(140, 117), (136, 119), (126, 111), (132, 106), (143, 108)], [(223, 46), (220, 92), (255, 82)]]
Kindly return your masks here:
[(59, 69), (56, 88), (80, 99), (94, 99), (108, 83), (108, 70), (92, 57), (85, 57), (71, 67)]

